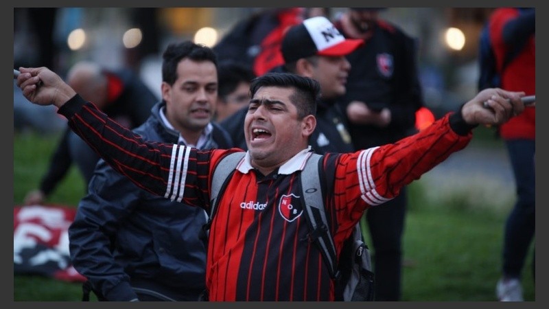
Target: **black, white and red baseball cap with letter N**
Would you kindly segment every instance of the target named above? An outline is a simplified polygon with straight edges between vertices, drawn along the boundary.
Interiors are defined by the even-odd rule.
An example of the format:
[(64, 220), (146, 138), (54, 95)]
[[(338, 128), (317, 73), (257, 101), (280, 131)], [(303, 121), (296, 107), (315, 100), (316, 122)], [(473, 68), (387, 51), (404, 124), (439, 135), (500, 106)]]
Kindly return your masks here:
[(282, 39), (281, 52), (286, 63), (310, 56), (345, 56), (364, 44), (360, 39), (349, 39), (324, 16), (305, 19), (294, 25)]

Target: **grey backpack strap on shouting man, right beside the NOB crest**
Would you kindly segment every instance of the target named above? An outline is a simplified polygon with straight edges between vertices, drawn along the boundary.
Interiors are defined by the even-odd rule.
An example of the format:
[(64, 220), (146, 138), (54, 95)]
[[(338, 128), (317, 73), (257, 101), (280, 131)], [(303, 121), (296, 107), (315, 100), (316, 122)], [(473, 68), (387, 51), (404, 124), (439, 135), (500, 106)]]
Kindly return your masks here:
[(340, 277), (336, 245), (331, 237), (326, 218), (318, 164), (322, 156), (313, 153), (301, 171), (301, 190), (305, 201), (305, 218), (309, 223), (309, 240), (320, 249), (324, 262), (334, 279)]

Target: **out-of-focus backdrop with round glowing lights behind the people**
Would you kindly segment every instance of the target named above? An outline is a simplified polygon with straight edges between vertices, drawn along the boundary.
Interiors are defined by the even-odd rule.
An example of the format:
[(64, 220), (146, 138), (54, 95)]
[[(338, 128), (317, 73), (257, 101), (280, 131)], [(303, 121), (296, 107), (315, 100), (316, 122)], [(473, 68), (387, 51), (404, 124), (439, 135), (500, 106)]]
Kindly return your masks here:
[[(346, 8), (321, 9), (333, 19)], [(274, 9), (14, 8), (14, 68), (46, 66), (64, 76), (75, 62), (91, 60), (108, 69), (134, 70), (160, 97), (161, 52), (168, 44), (190, 39), (213, 47), (239, 21), (264, 10)], [(417, 38), (425, 105), (436, 116), (476, 93), (478, 37), (492, 10), (391, 8), (379, 13)], [(14, 89), (16, 130), (64, 128), (54, 111), (34, 108)]]

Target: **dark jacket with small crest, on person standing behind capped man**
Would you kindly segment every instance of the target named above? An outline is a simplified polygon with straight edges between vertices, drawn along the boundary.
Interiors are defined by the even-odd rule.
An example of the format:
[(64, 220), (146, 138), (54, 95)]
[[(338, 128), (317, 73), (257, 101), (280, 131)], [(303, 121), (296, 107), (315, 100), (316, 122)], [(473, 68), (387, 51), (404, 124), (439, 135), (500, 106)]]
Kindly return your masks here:
[[(347, 37), (340, 21), (334, 25)], [(423, 93), (417, 67), (417, 42), (399, 27), (378, 21), (377, 28), (364, 45), (347, 55), (351, 71), (347, 93), (340, 100), (342, 111), (353, 100), (371, 108), (390, 109), (391, 121), (385, 128), (349, 123), (357, 150), (394, 143), (416, 133), (415, 113), (423, 106)], [(347, 116), (347, 115), (346, 115)]]

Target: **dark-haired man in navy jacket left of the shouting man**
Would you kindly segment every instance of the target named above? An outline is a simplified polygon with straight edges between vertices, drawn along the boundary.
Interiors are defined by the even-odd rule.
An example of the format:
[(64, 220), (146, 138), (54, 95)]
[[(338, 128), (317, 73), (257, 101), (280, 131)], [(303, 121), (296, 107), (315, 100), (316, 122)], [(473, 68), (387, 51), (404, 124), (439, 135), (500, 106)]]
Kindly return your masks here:
[[(212, 122), (215, 54), (191, 41), (163, 54), (162, 100), (134, 130), (146, 140), (198, 149), (231, 148)], [(146, 192), (100, 160), (71, 227), (75, 269), (106, 301), (198, 301), (205, 290), (207, 214)]]

